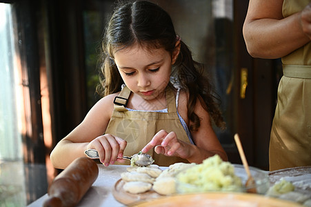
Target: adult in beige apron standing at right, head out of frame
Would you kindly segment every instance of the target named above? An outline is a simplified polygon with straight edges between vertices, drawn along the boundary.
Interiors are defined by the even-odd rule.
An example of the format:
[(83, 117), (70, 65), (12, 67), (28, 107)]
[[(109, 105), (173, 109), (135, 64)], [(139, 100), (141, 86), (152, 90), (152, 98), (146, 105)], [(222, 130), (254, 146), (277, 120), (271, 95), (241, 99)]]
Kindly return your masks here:
[(243, 35), (252, 57), (282, 58), (270, 170), (311, 165), (311, 4), (250, 0)]

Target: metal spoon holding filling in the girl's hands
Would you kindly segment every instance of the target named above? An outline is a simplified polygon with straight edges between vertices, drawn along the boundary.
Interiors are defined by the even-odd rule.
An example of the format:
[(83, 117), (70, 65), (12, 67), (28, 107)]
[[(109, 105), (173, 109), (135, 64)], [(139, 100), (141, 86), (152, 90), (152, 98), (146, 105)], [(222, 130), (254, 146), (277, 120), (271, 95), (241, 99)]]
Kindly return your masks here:
[[(99, 159), (99, 154), (97, 150), (88, 149), (84, 151), (84, 153), (92, 159)], [(137, 154), (134, 154), (131, 157), (123, 156), (122, 158), (129, 159), (131, 161), (131, 166), (145, 167), (150, 166), (152, 163), (154, 163), (154, 159), (150, 155), (145, 154), (143, 152), (138, 152)]]

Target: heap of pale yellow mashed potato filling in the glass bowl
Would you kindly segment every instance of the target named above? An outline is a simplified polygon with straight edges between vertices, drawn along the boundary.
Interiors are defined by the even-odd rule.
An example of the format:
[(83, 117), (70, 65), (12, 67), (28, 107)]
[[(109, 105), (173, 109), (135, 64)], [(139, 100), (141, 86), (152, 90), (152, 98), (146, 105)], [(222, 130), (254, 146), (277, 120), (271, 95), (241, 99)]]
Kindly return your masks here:
[(243, 191), (241, 178), (234, 175), (234, 166), (222, 161), (219, 155), (205, 159), (177, 175), (179, 193), (206, 191)]

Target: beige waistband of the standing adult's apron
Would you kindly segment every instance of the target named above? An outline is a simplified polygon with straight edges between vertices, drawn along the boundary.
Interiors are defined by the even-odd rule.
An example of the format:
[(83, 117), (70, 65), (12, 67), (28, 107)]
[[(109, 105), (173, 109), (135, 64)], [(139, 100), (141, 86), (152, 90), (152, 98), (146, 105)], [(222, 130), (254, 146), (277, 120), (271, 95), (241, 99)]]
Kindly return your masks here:
[(283, 75), (301, 79), (311, 79), (311, 66), (283, 65)]

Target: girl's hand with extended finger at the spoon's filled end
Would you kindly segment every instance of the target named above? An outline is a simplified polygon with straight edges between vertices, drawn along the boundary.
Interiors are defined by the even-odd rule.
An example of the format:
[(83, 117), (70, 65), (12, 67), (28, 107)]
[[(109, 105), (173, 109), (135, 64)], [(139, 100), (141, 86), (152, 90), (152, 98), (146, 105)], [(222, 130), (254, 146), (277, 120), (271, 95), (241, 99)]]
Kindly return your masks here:
[(154, 151), (157, 154), (186, 159), (190, 157), (190, 148), (187, 146), (189, 146), (187, 143), (177, 139), (175, 132), (168, 133), (165, 130), (160, 130), (141, 151), (146, 153), (155, 147)]

